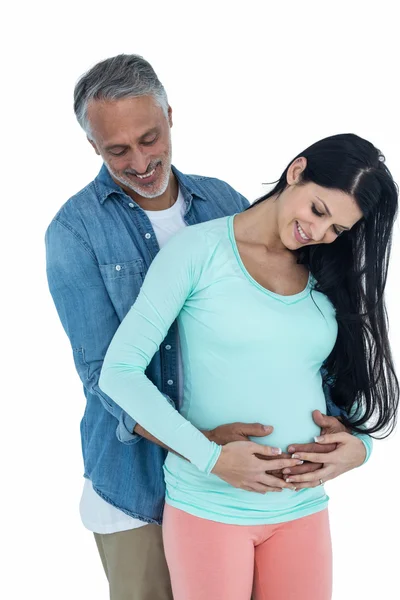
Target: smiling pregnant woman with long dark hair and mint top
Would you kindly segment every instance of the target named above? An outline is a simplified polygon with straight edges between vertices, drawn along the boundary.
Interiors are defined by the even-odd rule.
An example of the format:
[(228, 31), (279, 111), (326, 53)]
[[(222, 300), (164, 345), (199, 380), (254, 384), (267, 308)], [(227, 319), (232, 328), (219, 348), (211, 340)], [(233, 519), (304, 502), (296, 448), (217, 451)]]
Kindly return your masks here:
[[(332, 136), (300, 153), (250, 209), (189, 227), (154, 260), (100, 387), (173, 451), (163, 534), (176, 600), (247, 600), (252, 588), (255, 600), (331, 597), (328, 498), (316, 481), (334, 465), (288, 477), (283, 490), (269, 471), (282, 465), (281, 448), (318, 435), (321, 368), (354, 434), (337, 434), (339, 446), (366, 460), (366, 434), (394, 425), (383, 293), (397, 201), (379, 151)], [(176, 318), (180, 414), (144, 374)], [(222, 448), (199, 431), (235, 421), (274, 431)]]

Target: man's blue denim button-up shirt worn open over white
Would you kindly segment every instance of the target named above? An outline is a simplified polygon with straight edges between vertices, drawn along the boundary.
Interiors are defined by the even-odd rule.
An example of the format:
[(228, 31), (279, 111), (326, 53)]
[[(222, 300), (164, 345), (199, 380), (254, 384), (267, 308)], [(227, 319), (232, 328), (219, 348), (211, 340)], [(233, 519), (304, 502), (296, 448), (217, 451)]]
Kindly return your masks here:
[[(241, 212), (248, 201), (227, 183), (172, 167), (194, 225)], [(135, 302), (159, 251), (146, 213), (110, 177), (99, 175), (60, 209), (46, 232), (47, 277), (83, 383), (84, 476), (107, 502), (149, 523), (161, 523), (166, 451), (133, 434), (135, 421), (98, 385), (106, 350)], [(174, 323), (146, 374), (177, 403)]]

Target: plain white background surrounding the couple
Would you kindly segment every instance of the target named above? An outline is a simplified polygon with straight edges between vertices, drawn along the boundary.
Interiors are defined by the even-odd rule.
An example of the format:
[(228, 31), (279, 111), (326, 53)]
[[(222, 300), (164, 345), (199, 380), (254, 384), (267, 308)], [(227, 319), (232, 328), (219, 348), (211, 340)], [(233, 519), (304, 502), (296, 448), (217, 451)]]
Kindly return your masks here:
[[(84, 396), (47, 290), (43, 246), (55, 212), (100, 168), (75, 122), (77, 78), (109, 56), (142, 54), (174, 111), (174, 163), (225, 179), (249, 199), (299, 151), (340, 132), (375, 143), (400, 181), (398, 21), (386, 1), (13, 6), (2, 18), (0, 593), (105, 600), (78, 513)], [(388, 283), (397, 363), (399, 262), (397, 226)], [(375, 443), (367, 466), (327, 485), (335, 600), (397, 597), (398, 446), (398, 433)]]

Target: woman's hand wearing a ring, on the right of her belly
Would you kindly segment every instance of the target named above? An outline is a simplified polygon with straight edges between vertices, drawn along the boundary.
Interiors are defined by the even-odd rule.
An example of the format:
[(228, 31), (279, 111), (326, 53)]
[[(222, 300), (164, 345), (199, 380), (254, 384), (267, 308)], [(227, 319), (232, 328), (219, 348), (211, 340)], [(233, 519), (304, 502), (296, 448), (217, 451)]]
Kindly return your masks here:
[(312, 488), (362, 465), (366, 449), (362, 441), (351, 433), (332, 433), (316, 438), (318, 444), (337, 444), (336, 450), (327, 454), (313, 452), (295, 452), (292, 458), (311, 463), (323, 463), (322, 468), (303, 475), (289, 475), (287, 483), (293, 483), (296, 490)]

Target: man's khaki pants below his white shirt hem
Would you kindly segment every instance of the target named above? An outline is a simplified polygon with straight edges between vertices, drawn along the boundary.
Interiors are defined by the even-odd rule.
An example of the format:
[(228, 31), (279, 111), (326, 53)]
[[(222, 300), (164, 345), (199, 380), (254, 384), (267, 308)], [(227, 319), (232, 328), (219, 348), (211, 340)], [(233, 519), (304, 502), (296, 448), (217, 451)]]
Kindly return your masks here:
[(173, 600), (159, 525), (94, 537), (110, 600)]

